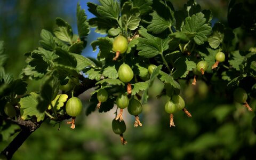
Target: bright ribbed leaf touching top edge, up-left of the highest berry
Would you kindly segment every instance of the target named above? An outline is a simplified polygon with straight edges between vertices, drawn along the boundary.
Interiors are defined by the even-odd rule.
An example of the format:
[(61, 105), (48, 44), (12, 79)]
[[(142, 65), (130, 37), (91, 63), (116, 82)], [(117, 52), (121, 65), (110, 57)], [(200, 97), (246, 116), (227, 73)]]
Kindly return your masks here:
[(120, 15), (120, 7), (117, 1), (114, 0), (99, 0), (101, 5), (97, 6), (97, 12), (102, 18), (118, 19)]

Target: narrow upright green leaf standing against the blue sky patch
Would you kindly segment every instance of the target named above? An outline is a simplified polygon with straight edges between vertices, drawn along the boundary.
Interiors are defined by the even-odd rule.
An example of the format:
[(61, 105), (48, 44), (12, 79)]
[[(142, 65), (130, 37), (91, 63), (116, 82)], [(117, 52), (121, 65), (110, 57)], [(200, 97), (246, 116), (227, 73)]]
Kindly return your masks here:
[(81, 5), (79, 3), (77, 3), (76, 7), (76, 19), (78, 35), (83, 40), (90, 33), (90, 28), (89, 23), (87, 22), (85, 10), (81, 9)]

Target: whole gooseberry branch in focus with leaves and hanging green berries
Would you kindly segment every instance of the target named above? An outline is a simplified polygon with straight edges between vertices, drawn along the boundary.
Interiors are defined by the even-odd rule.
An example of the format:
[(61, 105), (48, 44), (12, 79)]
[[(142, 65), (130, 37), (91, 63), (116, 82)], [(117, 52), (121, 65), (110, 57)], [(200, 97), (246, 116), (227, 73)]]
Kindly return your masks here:
[[(170, 127), (175, 126), (178, 111), (193, 118), (193, 109), (186, 108), (180, 95), (182, 80), (196, 85), (200, 79), (215, 93), (226, 93), (227, 98), (252, 111), (247, 101), (256, 97), (256, 48), (239, 50), (240, 40), (234, 31), (237, 25), (213, 24), (211, 11), (201, 10), (193, 0), (183, 10), (175, 10), (169, 0), (99, 3), (87, 3), (95, 15), (91, 19), (77, 4), (78, 35), (61, 18), (55, 20), (57, 28), (53, 31), (43, 29), (40, 46), (25, 53), (26, 66), (17, 79), (5, 73), (7, 53), (0, 43), (0, 130), (1, 134), (19, 132), (2, 151), (7, 158), (47, 120), (60, 123), (72, 118), (68, 123), (75, 129), (75, 117), (83, 108), (77, 97), (92, 88), (86, 115), (119, 108), (112, 127), (123, 145), (126, 125), (122, 113), (135, 116), (135, 127), (143, 126), (139, 116), (156, 79), (164, 84), (158, 97), (167, 97), (162, 109), (170, 115)], [(235, 14), (232, 9), (230, 5), (230, 19)], [(94, 51), (99, 49), (95, 59), (81, 55), (90, 28), (104, 35), (91, 43)], [(27, 93), (28, 80), (38, 79), (43, 82), (41, 89)]]

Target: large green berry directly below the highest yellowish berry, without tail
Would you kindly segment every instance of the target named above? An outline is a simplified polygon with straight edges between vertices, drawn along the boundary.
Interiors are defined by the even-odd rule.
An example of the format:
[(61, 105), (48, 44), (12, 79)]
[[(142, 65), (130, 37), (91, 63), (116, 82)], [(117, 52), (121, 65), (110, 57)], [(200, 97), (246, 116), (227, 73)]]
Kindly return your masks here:
[(118, 78), (124, 82), (124, 83), (128, 83), (132, 80), (134, 74), (133, 71), (131, 69), (131, 67), (129, 65), (126, 65), (125, 63), (123, 63), (119, 69), (118, 69)]

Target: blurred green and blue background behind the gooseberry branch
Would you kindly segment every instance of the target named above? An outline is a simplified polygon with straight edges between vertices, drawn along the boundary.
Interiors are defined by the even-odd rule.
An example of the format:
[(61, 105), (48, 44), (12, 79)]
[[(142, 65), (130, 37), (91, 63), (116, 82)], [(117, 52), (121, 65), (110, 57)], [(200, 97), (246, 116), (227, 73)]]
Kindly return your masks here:
[[(2, 0), (0, 1), (0, 40), (6, 43), (9, 61), (6, 72), (19, 76), (25, 57), (23, 54), (39, 46), (42, 29), (52, 31), (56, 17), (68, 21), (76, 30), (76, 4), (78, 1), (58, 0)], [(86, 9), (88, 1), (80, 1)], [(90, 1), (98, 3), (98, 1)], [(186, 1), (172, 1), (178, 9)], [(228, 1), (198, 1), (202, 9), (213, 11), (213, 21), (226, 23)], [(87, 12), (91, 17), (92, 15)], [(93, 30), (88, 37), (84, 55), (95, 57), (90, 42), (101, 36)], [(39, 82), (38, 82), (39, 83)], [(234, 103), (231, 95), (215, 93), (211, 84), (199, 81), (197, 86), (182, 85), (182, 97), (192, 114), (187, 117), (181, 111), (174, 115), (175, 127), (169, 127), (169, 115), (164, 111), (165, 97), (156, 95), (163, 89), (162, 82), (151, 86), (152, 100), (143, 106), (140, 115), (142, 127), (134, 128), (134, 117), (124, 111), (127, 130), (122, 146), (119, 135), (112, 132), (111, 121), (116, 107), (108, 113), (95, 111), (85, 116), (89, 105), (89, 93), (80, 95), (84, 103), (83, 114), (76, 119), (76, 129), (71, 130), (66, 122), (43, 123), (23, 143), (13, 159), (250, 159), (256, 148), (256, 136), (252, 119), (245, 107)], [(38, 90), (35, 84), (29, 90)], [(250, 102), (255, 110), (256, 101)], [(3, 150), (12, 140), (0, 143)]]

